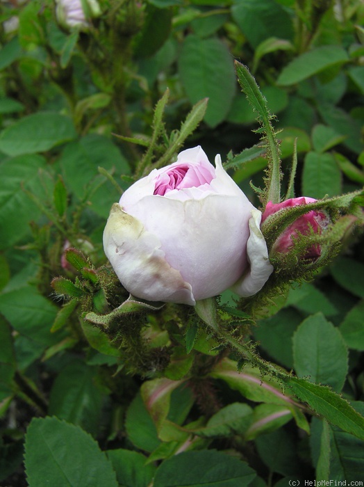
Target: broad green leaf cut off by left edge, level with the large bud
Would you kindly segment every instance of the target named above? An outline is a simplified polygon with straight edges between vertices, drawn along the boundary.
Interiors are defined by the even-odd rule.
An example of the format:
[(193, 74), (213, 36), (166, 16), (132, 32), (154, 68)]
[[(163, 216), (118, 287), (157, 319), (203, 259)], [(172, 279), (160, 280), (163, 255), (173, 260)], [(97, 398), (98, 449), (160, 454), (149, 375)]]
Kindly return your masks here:
[(0, 248), (13, 246), (30, 231), (28, 222), (36, 220), (40, 210), (22, 190), (42, 195), (38, 170), (45, 161), (38, 155), (8, 159), (0, 166)]

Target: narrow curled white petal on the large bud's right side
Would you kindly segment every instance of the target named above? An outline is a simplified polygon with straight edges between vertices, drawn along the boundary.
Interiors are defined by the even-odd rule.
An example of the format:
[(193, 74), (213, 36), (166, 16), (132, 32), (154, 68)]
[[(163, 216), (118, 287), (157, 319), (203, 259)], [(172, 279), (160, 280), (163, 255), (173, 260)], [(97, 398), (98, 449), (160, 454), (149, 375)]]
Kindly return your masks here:
[(262, 213), (258, 209), (251, 210), (249, 219), (250, 236), (247, 241), (247, 257), (250, 268), (231, 289), (239, 296), (247, 298), (256, 294), (267, 282), (274, 271), (268, 257), (268, 249), (263, 233), (260, 231)]

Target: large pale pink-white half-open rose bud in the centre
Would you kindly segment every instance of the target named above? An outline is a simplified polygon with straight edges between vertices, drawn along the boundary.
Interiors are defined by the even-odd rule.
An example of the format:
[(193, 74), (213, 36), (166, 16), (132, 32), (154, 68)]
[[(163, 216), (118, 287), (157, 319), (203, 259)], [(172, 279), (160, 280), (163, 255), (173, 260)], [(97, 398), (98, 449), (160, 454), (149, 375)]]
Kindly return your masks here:
[(122, 285), (148, 301), (195, 305), (233, 287), (258, 292), (272, 273), (261, 213), (201, 147), (154, 169), (115, 203), (104, 250)]

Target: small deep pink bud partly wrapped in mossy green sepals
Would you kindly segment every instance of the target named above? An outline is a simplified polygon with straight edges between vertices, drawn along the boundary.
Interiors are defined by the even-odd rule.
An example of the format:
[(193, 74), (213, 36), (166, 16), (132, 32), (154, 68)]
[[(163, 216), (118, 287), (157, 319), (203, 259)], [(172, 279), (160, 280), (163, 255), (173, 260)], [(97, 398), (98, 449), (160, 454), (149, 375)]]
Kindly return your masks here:
[[(283, 201), (281, 203), (268, 202), (265, 210), (263, 212), (262, 221), (276, 213), (283, 208), (295, 207), (297, 205), (307, 205), (308, 203), (314, 203), (317, 200), (314, 198), (306, 198), (301, 196), (300, 198), (290, 198), (289, 200)], [(299, 216), (297, 220), (289, 225), (286, 230), (284, 230), (281, 235), (274, 242), (272, 250), (276, 253), (287, 253), (290, 248), (294, 245), (295, 238), (301, 235), (308, 235), (311, 232), (320, 234), (322, 229), (329, 224), (329, 217), (322, 211), (317, 211), (312, 209), (306, 214)], [(321, 247), (318, 244), (308, 248), (304, 258), (307, 260), (317, 260), (321, 255)]]

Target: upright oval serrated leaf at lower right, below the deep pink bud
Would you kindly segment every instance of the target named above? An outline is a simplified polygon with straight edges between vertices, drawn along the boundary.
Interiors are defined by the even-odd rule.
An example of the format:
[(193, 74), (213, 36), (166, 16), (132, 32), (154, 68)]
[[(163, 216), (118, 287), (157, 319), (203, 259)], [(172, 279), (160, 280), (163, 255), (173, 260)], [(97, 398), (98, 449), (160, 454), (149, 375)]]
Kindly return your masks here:
[(340, 392), (347, 375), (347, 347), (338, 328), (321, 313), (306, 318), (293, 335), (295, 371), (299, 377), (331, 385)]

